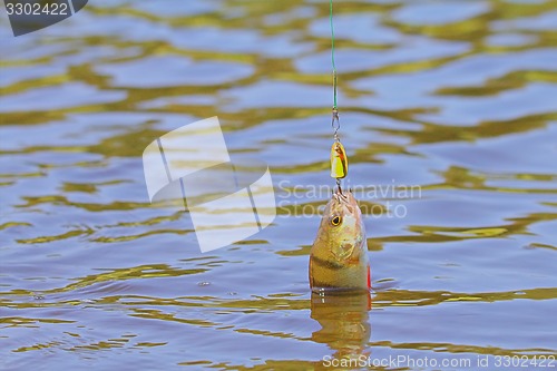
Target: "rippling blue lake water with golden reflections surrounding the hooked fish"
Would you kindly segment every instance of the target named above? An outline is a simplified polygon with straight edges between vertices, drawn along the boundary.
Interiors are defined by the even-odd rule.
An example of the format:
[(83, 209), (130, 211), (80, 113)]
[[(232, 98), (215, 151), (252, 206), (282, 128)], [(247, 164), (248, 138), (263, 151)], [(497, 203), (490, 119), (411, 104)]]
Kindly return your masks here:
[[(0, 12), (0, 369), (557, 368), (556, 1), (335, 2), (370, 297), (307, 283), (328, 1), (99, 0), (18, 38)], [(278, 215), (202, 254), (141, 154), (212, 116)]]

